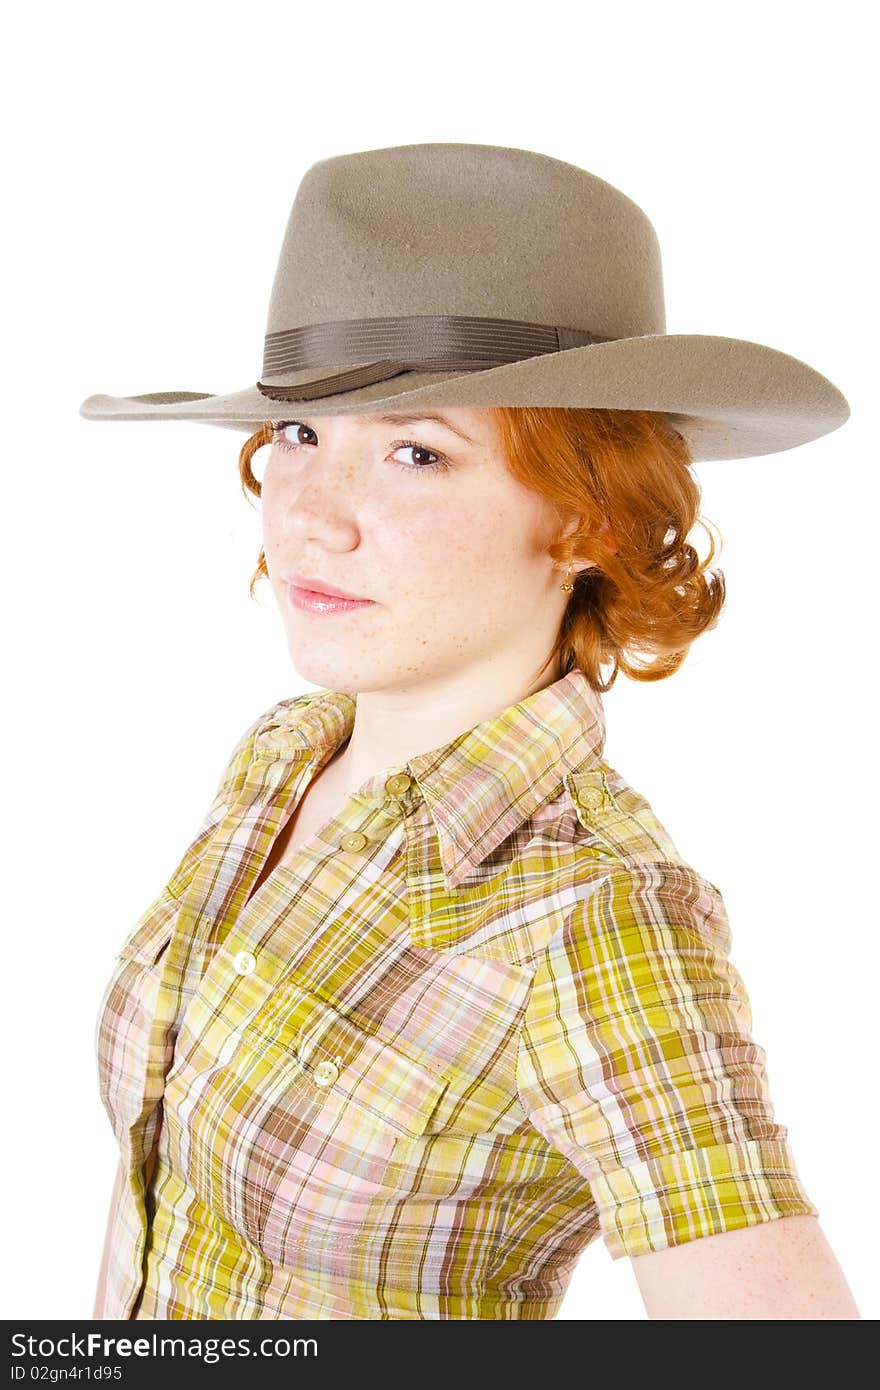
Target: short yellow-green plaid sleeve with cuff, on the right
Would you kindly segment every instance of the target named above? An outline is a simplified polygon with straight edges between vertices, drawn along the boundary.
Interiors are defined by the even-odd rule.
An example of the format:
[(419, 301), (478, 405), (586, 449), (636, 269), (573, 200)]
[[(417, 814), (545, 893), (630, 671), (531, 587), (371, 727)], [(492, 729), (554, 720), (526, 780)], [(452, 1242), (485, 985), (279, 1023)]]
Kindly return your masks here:
[(539, 958), (519, 1095), (588, 1180), (614, 1259), (819, 1215), (730, 938), (720, 891), (688, 865), (612, 865)]

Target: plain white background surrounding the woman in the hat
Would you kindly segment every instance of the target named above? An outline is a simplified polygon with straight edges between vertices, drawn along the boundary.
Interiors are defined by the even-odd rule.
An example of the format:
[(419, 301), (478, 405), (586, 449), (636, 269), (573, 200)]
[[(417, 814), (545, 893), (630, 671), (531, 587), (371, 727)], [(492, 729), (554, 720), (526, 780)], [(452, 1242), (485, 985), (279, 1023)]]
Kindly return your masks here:
[[(724, 892), (777, 1119), (876, 1318), (869, 18), (152, 0), (7, 19), (4, 1316), (90, 1316), (115, 1168), (92, 1030), (114, 951), (238, 735), (309, 688), (271, 595), (247, 594), (246, 435), (90, 423), (79, 402), (253, 384), (306, 168), (456, 140), (614, 183), (658, 231), (669, 332), (780, 348), (851, 403), (810, 445), (696, 466), (720, 626), (673, 678), (620, 677), (605, 701), (610, 762)], [(630, 1262), (596, 1241), (560, 1316), (644, 1318)]]

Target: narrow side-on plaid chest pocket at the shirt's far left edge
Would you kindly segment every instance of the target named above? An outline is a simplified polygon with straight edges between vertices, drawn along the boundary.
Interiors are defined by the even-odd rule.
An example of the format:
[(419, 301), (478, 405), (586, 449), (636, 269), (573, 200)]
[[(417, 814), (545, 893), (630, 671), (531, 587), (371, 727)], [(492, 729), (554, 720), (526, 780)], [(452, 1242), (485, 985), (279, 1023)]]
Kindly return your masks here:
[(161, 1095), (167, 1056), (157, 1017), (163, 958), (181, 903), (163, 891), (125, 938), (97, 1009), (99, 1091), (113, 1131), (125, 1143)]

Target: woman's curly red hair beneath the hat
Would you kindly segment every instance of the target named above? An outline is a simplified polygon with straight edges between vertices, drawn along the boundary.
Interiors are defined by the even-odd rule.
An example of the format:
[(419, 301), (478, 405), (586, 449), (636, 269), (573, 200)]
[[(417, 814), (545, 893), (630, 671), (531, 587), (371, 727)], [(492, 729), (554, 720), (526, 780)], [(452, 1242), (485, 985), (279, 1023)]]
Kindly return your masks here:
[[(548, 555), (563, 567), (594, 563), (570, 575), (574, 591), (542, 670), (556, 660), (559, 678), (577, 667), (596, 691), (610, 689), (619, 670), (637, 681), (671, 676), (691, 642), (716, 626), (726, 595), (723, 573), (708, 573), (716, 546), (699, 516), (699, 485), (684, 438), (651, 410), (487, 409), (512, 475), (559, 510), (560, 537)], [(250, 460), (272, 438), (267, 420), (241, 450), (246, 495), (260, 496)], [(563, 539), (562, 523), (573, 517), (578, 527)], [(703, 560), (688, 539), (698, 524), (709, 535)], [(261, 577), (268, 578), (263, 549), (252, 598)]]

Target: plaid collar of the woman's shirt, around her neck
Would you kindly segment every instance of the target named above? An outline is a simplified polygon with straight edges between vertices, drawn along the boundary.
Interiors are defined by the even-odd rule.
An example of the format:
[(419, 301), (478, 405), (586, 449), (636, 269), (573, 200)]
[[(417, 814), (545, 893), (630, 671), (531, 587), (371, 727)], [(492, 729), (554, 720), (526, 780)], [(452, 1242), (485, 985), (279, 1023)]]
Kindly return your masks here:
[[(356, 695), (316, 691), (295, 696), (286, 721), (257, 739), (275, 752), (292, 741), (327, 762), (350, 735)], [(434, 821), (448, 888), (557, 795), (566, 774), (595, 766), (605, 745), (602, 698), (577, 667), (544, 689), (482, 720), (441, 748), (370, 777), (361, 798), (388, 795), (385, 783), (409, 773)]]

